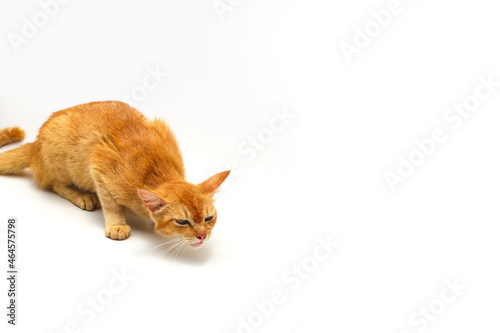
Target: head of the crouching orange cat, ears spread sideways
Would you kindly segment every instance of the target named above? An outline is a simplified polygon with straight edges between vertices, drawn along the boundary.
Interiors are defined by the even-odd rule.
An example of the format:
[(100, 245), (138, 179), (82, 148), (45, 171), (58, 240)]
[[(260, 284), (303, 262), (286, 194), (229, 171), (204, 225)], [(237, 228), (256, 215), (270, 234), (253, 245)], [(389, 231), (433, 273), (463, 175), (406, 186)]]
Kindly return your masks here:
[(210, 238), (217, 222), (213, 195), (229, 173), (218, 173), (197, 185), (171, 182), (154, 190), (137, 190), (137, 194), (157, 233), (200, 247)]

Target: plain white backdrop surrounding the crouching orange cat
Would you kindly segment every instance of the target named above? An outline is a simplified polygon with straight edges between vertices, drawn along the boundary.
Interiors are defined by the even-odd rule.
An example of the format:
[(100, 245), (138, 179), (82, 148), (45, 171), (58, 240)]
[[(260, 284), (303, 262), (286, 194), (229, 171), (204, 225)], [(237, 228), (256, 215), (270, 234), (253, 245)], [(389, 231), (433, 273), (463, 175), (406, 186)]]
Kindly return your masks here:
[[(137, 108), (170, 124), (188, 179), (240, 165), (218, 195), (213, 239), (177, 257), (154, 248), (162, 240), (149, 223), (130, 218), (130, 239), (112, 241), (101, 211), (81, 211), (29, 176), (0, 177), (1, 266), (14, 216), (20, 271), (16, 327), (6, 324), (1, 279), (2, 327), (498, 331), (500, 87), (458, 129), (443, 120), (479, 76), (500, 81), (498, 5), (401, 0), (349, 63), (341, 43), (353, 44), (389, 1), (231, 3), (221, 17), (212, 0), (68, 1), (16, 52), (13, 34), (43, 10), (35, 0), (0, 2), (0, 127), (21, 126), (33, 141), (52, 112), (121, 99), (159, 69), (168, 78)], [(254, 158), (242, 154), (284, 107), (295, 118)], [(447, 140), (391, 191), (384, 173), (435, 128)], [(316, 267), (318, 237), (340, 247)], [(303, 263), (310, 273), (294, 290), (286, 277)], [(134, 279), (86, 321), (77, 309), (109, 295), (122, 270)], [(447, 280), (466, 287), (449, 304), (440, 300), (452, 295)], [(273, 290), (283, 293), (274, 309)], [(410, 322), (429, 306), (439, 314), (425, 327)]]

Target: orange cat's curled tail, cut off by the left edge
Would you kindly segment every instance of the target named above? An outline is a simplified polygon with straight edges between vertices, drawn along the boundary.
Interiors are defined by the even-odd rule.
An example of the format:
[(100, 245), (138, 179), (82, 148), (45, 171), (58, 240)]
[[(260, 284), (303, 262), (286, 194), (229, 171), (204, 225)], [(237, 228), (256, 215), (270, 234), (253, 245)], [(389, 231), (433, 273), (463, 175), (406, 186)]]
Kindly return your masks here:
[[(24, 131), (19, 127), (0, 130), (0, 147), (24, 139)], [(0, 153), (0, 175), (11, 175), (29, 166), (33, 143)]]

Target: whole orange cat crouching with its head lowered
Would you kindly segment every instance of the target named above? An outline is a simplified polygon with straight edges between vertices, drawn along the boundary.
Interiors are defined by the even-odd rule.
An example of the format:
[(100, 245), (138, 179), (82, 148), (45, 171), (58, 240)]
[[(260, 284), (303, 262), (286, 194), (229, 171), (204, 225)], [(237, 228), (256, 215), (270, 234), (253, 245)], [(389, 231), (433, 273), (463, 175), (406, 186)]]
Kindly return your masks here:
[[(0, 131), (0, 146), (24, 138)], [(217, 222), (213, 194), (230, 171), (194, 185), (172, 131), (122, 102), (94, 102), (55, 112), (37, 140), (0, 154), (0, 174), (29, 167), (41, 188), (51, 188), (84, 210), (102, 206), (106, 236), (126, 239), (124, 208), (152, 220), (155, 231), (202, 245)]]

